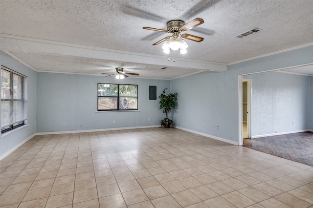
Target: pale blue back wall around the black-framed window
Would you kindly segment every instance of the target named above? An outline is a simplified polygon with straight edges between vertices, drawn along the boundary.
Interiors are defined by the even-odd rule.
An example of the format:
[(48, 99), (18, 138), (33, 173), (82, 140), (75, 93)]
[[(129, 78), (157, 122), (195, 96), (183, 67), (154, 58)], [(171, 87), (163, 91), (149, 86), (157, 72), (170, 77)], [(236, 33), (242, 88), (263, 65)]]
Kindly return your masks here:
[[(37, 74), (37, 132), (67, 132), (96, 129), (158, 126), (164, 115), (158, 100), (149, 100), (149, 85), (157, 95), (169, 80), (127, 78), (121, 84), (138, 84), (139, 111), (96, 112), (97, 83), (119, 83), (105, 76)], [(151, 118), (148, 121), (148, 118)], [(113, 124), (113, 120), (115, 124)], [(65, 123), (63, 126), (62, 123)]]

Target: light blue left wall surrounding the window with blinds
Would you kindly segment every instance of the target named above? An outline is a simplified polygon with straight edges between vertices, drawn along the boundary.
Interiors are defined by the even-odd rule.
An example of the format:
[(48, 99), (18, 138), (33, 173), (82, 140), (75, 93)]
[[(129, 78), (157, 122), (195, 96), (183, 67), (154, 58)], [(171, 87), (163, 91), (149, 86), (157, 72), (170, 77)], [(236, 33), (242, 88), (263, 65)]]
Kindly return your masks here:
[(36, 72), (21, 62), (0, 51), (0, 63), (7, 68), (27, 76), (27, 126), (1, 134), (0, 159), (11, 149), (22, 145), (36, 133)]

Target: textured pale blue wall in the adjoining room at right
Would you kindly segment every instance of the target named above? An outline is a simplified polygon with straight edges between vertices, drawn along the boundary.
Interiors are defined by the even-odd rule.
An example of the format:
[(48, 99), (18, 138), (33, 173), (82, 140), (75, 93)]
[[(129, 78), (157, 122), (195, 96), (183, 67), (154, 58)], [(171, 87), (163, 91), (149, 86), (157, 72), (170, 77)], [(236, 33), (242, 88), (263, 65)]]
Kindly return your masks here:
[(292, 133), (309, 129), (308, 76), (266, 72), (251, 79), (251, 137)]

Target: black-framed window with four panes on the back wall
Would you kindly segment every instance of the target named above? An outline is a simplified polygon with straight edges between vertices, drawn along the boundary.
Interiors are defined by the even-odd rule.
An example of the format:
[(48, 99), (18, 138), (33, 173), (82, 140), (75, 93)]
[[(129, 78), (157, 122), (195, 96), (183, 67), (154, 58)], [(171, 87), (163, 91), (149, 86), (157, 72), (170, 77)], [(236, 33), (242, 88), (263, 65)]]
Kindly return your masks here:
[(98, 83), (98, 111), (137, 110), (138, 85)]

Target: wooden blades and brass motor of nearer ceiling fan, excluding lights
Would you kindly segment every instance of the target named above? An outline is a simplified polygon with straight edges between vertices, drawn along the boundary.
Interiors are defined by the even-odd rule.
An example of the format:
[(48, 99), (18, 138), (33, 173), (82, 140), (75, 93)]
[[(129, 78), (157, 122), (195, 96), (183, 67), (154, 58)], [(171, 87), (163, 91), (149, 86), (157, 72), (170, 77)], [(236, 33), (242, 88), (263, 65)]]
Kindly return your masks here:
[(183, 21), (180, 20), (173, 20), (173, 21), (169, 21), (167, 22), (166, 26), (167, 26), (167, 30), (163, 30), (163, 29), (157, 29), (157, 28), (153, 28), (153, 27), (143, 27), (142, 29), (146, 29), (146, 30), (154, 30), (154, 31), (158, 31), (158, 32), (164, 32), (164, 33), (172, 33), (172, 36), (167, 36), (155, 43), (153, 43), (153, 45), (157, 45), (161, 42), (164, 41), (175, 41), (178, 40), (179, 38), (184, 38), (190, 41), (194, 41), (194, 42), (201, 42), (204, 39), (195, 35), (190, 35), (190, 34), (182, 34), (180, 35), (181, 32), (190, 30), (194, 27), (197, 27), (198, 25), (203, 24), (204, 21), (201, 18), (196, 18), (188, 23), (184, 23)]

